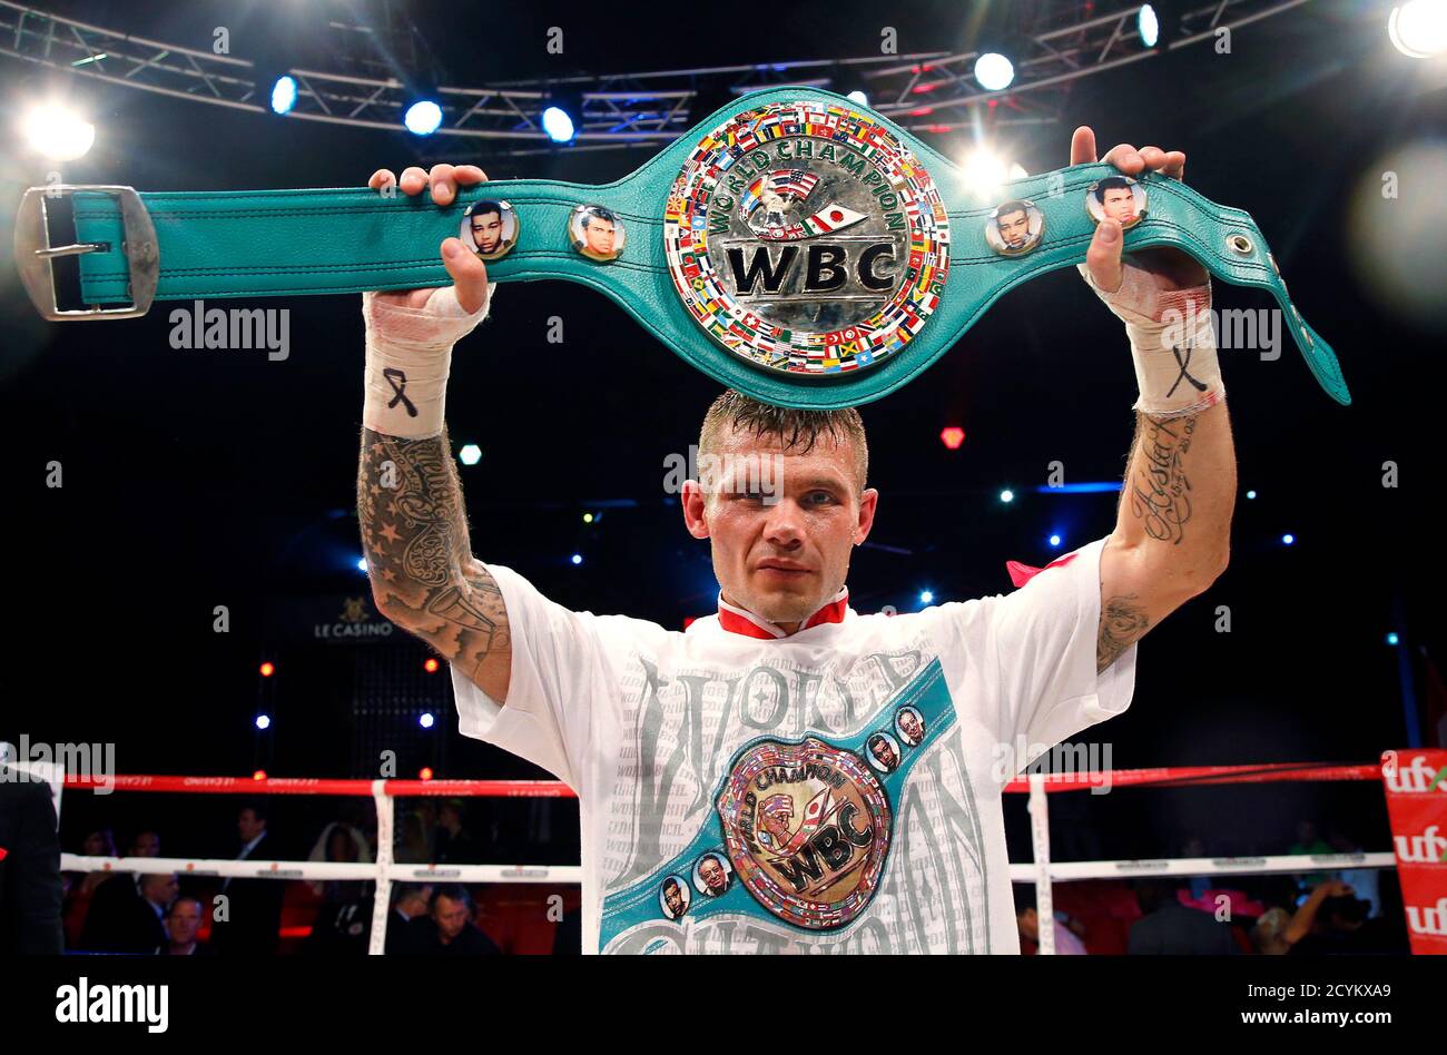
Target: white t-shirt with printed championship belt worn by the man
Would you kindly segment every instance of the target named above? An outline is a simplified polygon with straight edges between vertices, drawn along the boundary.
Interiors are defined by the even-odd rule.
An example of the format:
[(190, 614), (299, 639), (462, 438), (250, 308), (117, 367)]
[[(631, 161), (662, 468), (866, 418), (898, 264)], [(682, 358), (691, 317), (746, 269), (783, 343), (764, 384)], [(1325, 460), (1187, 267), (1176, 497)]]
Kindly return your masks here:
[(577, 792), (585, 952), (1019, 952), (1001, 787), (1134, 689), (1134, 645), (1095, 674), (1103, 547), (777, 640), (491, 564), (512, 677), (499, 708), (454, 669), (460, 728)]

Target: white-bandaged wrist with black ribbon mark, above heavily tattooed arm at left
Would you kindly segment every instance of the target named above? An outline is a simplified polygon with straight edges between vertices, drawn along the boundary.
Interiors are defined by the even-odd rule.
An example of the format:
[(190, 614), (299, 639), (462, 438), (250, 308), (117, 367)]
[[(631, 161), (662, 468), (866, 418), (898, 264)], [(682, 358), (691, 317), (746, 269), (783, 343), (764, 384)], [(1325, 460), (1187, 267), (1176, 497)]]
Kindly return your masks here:
[(363, 425), (402, 438), (441, 434), (453, 344), (488, 317), (495, 288), (496, 282), (488, 284), (486, 301), (472, 314), (463, 311), (453, 287), (437, 289), (421, 308), (362, 294)]

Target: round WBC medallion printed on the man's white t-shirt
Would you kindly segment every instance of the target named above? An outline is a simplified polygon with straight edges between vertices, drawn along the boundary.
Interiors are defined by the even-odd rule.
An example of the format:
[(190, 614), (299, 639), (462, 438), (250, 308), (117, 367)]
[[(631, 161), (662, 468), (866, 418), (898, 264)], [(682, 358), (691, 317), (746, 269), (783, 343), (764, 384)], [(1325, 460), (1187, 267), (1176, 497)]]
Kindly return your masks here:
[(770, 913), (831, 931), (870, 903), (890, 848), (890, 803), (857, 754), (809, 738), (763, 741), (718, 800), (734, 873)]

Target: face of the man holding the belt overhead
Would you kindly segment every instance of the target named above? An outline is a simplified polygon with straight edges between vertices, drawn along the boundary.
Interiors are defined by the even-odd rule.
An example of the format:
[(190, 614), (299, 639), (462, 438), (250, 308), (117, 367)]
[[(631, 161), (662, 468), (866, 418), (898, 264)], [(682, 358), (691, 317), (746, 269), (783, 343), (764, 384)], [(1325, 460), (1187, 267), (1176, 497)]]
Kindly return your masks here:
[(683, 517), (712, 543), (724, 599), (786, 628), (807, 619), (844, 586), (874, 524), (878, 492), (858, 491), (854, 446), (822, 434), (802, 454), (739, 430), (699, 456), (700, 476), (710, 454), (716, 493), (690, 482)]

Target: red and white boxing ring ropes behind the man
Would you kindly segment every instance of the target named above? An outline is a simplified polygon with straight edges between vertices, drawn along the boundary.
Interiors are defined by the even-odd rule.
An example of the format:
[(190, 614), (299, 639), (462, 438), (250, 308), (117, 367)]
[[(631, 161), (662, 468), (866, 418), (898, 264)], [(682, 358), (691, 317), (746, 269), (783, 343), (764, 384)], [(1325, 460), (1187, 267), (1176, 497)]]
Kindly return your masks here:
[[(1207, 787), (1259, 784), (1283, 780), (1370, 780), (1380, 783), (1379, 766), (1321, 766), (1275, 763), (1266, 766), (1185, 766), (1142, 770), (1100, 770), (1075, 774), (1032, 773), (1004, 786), (1010, 795), (1029, 796), (1035, 861), (1011, 864), (1013, 883), (1035, 883), (1036, 915), (1051, 919), (1052, 884), (1069, 880), (1123, 876), (1259, 876), (1318, 871), (1324, 868), (1393, 868), (1396, 857), (1376, 854), (1276, 854), (1266, 857), (1181, 857), (1133, 861), (1052, 861), (1048, 796), (1114, 787)], [(305, 777), (174, 777), (69, 776), (65, 787), (103, 792), (169, 792), (182, 795), (324, 795), (368, 796), (376, 806), (376, 861), (256, 861), (188, 857), (87, 857), (61, 854), (62, 871), (117, 871), (140, 874), (205, 876), (217, 878), (372, 880), (372, 936), (368, 952), (381, 955), (386, 945), (392, 883), (582, 883), (582, 865), (501, 864), (399, 864), (392, 860), (395, 802), (412, 796), (547, 797), (576, 799), (559, 780), (326, 780)], [(1039, 951), (1055, 952), (1055, 932), (1040, 928)]]

